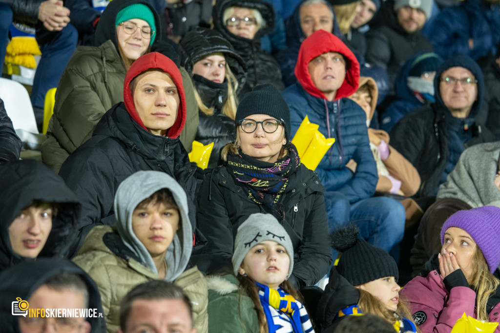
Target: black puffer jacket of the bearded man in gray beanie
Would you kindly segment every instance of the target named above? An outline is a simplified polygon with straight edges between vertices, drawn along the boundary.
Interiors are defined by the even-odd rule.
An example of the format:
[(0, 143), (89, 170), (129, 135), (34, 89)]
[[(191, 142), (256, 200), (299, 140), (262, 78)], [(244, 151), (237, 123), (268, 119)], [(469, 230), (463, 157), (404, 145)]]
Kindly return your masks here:
[(407, 33), (398, 23), (392, 5), (384, 6), (379, 16), (383, 25), (366, 32), (366, 62), (389, 74), (389, 94), (394, 94), (397, 69), (419, 51), (432, 52), (432, 44), (421, 31)]

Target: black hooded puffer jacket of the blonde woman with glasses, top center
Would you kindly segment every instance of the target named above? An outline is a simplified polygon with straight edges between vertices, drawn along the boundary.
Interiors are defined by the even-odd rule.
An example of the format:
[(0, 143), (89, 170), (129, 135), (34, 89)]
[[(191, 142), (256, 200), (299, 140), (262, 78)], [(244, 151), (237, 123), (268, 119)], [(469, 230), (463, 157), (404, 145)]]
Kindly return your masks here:
[[(222, 21), (224, 10), (231, 6), (257, 9), (266, 25), (257, 31), (253, 39), (232, 34), (227, 30)], [(248, 66), (246, 84), (238, 94), (239, 99), (241, 99), (245, 92), (250, 91), (257, 84), (272, 83), (278, 90), (284, 90), (278, 63), (272, 55), (264, 51), (260, 46), (260, 36), (271, 33), (274, 28), (274, 10), (272, 4), (263, 0), (218, 0), (213, 7), (212, 16), (213, 28), (229, 40)]]

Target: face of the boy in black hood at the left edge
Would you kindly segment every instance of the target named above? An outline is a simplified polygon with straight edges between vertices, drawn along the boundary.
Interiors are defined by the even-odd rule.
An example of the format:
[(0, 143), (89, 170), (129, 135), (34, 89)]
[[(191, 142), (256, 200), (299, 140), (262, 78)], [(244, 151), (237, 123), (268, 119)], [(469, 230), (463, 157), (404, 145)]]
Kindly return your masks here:
[(52, 229), (52, 208), (29, 206), (8, 227), (12, 251), (20, 256), (36, 258)]

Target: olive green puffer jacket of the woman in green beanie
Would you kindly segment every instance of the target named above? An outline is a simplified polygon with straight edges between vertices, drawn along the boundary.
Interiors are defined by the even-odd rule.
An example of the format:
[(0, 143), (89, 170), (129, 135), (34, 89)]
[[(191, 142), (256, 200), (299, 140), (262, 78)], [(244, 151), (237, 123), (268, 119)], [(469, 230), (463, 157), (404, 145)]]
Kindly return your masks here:
[[(179, 68), (184, 86), (187, 118), (180, 141), (187, 151), (198, 126), (198, 106), (189, 74)], [(59, 172), (62, 162), (92, 135), (104, 112), (123, 101), (126, 69), (111, 40), (100, 46), (80, 46), (59, 81), (47, 139), (41, 147), (44, 164)]]

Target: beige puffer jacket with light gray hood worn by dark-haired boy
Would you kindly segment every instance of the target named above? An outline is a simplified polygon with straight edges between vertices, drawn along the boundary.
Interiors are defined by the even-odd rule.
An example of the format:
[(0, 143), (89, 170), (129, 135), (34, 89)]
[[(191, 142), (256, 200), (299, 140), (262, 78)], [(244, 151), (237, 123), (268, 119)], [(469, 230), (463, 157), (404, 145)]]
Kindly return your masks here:
[[(171, 176), (159, 171), (138, 171), (127, 177), (116, 190), (114, 198), (115, 227), (95, 226), (85, 238), (73, 261), (95, 280), (101, 293), (108, 332), (119, 322), (119, 305), (123, 296), (135, 285), (158, 279), (156, 265), (132, 228), (136, 206), (154, 192), (167, 188), (179, 212), (178, 229), (165, 253), (165, 281), (179, 285), (193, 302), (193, 322), (198, 331), (206, 322), (206, 282), (199, 270), (186, 270), (192, 250), (192, 229), (188, 216), (187, 197)], [(154, 232), (154, 231), (152, 231)]]

